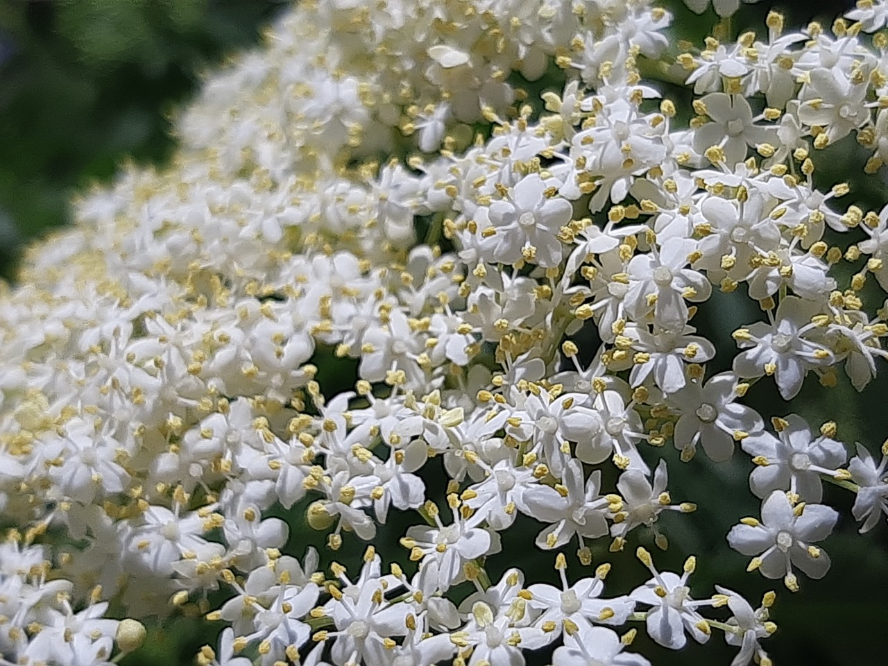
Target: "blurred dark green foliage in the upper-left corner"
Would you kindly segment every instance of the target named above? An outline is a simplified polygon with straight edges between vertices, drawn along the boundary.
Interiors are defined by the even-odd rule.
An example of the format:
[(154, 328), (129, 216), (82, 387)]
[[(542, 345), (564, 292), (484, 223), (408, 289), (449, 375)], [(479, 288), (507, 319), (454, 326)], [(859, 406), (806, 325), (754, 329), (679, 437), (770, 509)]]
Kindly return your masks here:
[(124, 157), (170, 153), (197, 72), (258, 41), (280, 0), (0, 0), (0, 275)]

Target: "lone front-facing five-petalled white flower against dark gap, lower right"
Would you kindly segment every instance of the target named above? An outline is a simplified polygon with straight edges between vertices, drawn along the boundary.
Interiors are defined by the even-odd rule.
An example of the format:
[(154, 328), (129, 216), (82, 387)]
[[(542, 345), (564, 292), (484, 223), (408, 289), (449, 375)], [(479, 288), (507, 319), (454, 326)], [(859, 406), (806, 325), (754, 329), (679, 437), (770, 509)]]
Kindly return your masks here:
[(829, 570), (826, 551), (814, 546), (836, 526), (838, 512), (823, 504), (797, 504), (774, 490), (762, 503), (762, 518), (745, 519), (731, 528), (727, 541), (735, 551), (754, 555), (749, 569), (760, 569), (765, 578), (783, 578), (790, 590), (798, 583), (793, 567), (811, 578), (822, 578)]

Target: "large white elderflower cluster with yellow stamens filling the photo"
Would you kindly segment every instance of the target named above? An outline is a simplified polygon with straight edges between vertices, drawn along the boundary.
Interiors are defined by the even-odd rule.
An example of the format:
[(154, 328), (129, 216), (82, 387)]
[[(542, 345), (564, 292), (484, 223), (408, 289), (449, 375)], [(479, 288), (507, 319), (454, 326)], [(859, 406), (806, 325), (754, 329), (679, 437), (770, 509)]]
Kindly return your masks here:
[[(718, 538), (791, 591), (829, 570), (825, 481), (861, 532), (888, 513), (888, 448), (744, 403), (888, 356), (888, 206), (815, 178), (842, 141), (888, 162), (886, 20), (679, 52), (648, 0), (297, 3), (168, 167), (0, 290), (0, 663), (105, 664), (183, 612), (225, 627), (201, 666), (645, 666), (639, 630), (769, 666), (773, 592), (694, 599), (694, 556), (637, 540), (708, 499), (673, 498), (671, 448), (751, 460), (760, 515)], [(761, 313), (721, 372), (714, 292)], [(606, 590), (624, 550), (638, 584)]]

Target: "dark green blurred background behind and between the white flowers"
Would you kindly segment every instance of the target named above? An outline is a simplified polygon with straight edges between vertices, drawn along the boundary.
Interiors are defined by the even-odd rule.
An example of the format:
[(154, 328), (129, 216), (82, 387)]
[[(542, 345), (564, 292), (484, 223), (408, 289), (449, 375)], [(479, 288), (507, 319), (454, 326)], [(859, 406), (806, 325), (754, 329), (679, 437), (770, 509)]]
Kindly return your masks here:
[[(107, 181), (124, 160), (163, 164), (174, 148), (168, 137), (170, 109), (186, 103), (201, 72), (218, 67), (227, 53), (256, 44), (258, 30), (288, 4), (275, 0), (0, 0), (0, 276), (12, 278), (23, 244), (67, 222), (67, 202), (73, 193)], [(702, 44), (702, 36), (715, 20), (711, 10), (701, 19), (678, 0), (666, 4), (676, 16), (675, 34)], [(743, 5), (735, 25), (763, 27), (767, 10), (776, 8), (788, 14), (788, 26), (802, 26), (814, 18), (829, 26), (837, 13), (852, 4), (852, 0), (764, 0)], [(670, 91), (673, 97), (681, 94)], [(829, 186), (841, 180), (843, 173), (858, 173), (855, 170), (860, 167), (855, 165), (866, 159), (858, 150), (853, 141), (844, 141), (822, 155), (819, 164), (829, 164), (829, 168), (819, 170), (821, 182)], [(888, 200), (884, 178), (869, 177), (865, 182), (862, 176), (854, 178), (863, 184), (855, 186), (843, 204), (881, 210)], [(884, 298), (876, 289), (868, 296), (871, 304)], [(741, 294), (716, 292), (694, 321), (703, 335), (724, 350), (710, 364), (710, 372), (730, 368), (735, 348), (730, 332), (760, 316)], [(861, 441), (875, 452), (888, 436), (888, 383), (884, 381), (888, 369), (884, 366), (882, 375), (862, 395), (846, 381), (828, 391), (809, 377), (792, 410), (814, 428), (836, 419), (839, 439), (849, 450), (853, 442)], [(353, 369), (330, 364), (321, 368), (319, 379), (325, 389), (334, 391), (341, 377), (350, 376)], [(766, 415), (789, 412), (773, 383), (767, 381), (749, 392), (748, 401)], [(825, 502), (843, 513), (836, 534), (825, 543), (833, 569), (821, 582), (803, 579), (803, 591), (793, 595), (779, 581), (746, 574), (746, 559), (725, 543), (725, 534), (739, 517), (758, 513), (758, 501), (745, 488), (751, 469), (748, 456), (738, 454), (732, 463), (714, 466), (703, 456), (680, 464), (678, 452), (662, 453), (670, 464), (675, 499), (697, 502), (700, 510), (694, 517), (664, 519), (672, 543), (666, 553), (654, 551), (644, 533), (634, 537), (632, 549), (617, 556), (607, 553), (607, 545), (599, 546), (596, 562), (614, 561), (610, 591), (627, 592), (638, 583), (640, 565), (631, 552), (638, 543), (654, 551), (661, 569), (680, 567), (694, 553), (699, 568), (692, 583), (699, 597), (708, 596), (713, 583), (742, 591), (753, 602), (766, 590), (778, 591), (773, 619), (780, 629), (765, 644), (778, 666), (888, 662), (883, 633), (888, 623), (888, 526), (884, 520), (867, 536), (857, 535), (850, 515), (853, 497), (828, 487)], [(730, 503), (720, 502), (722, 497), (729, 497)], [(323, 550), (322, 535), (302, 522), (304, 511), (304, 506), (297, 505), (285, 515), (292, 525), (288, 551), (299, 557), (309, 543)], [(412, 516), (392, 521), (377, 542), (393, 542), (410, 522), (414, 522)], [(538, 529), (527, 519), (506, 533), (503, 546), (510, 555), (495, 559), (491, 577), (496, 580), (508, 565), (542, 572), (553, 583), (557, 580), (550, 554), (525, 547)], [(353, 539), (337, 553), (337, 559), (356, 569), (363, 547)], [(579, 575), (578, 564), (572, 567), (574, 575)], [(218, 629), (198, 620), (177, 618), (153, 628), (147, 646), (124, 663), (194, 663), (196, 650), (212, 642), (217, 633)], [(658, 665), (727, 664), (735, 653), (718, 635), (707, 646), (676, 654), (648, 645), (642, 633), (638, 650)]]

